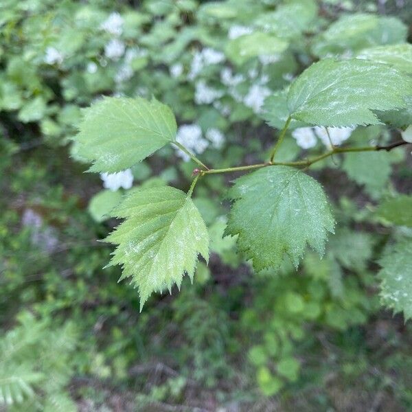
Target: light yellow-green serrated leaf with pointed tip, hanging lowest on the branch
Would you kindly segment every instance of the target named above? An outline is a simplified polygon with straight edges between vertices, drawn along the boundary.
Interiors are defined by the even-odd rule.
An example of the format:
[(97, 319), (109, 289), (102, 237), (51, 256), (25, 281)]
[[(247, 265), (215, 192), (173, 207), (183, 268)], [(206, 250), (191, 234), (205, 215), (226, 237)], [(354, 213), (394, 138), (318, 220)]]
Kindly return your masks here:
[(180, 288), (193, 279), (197, 256), (209, 257), (205, 222), (192, 200), (174, 187), (136, 190), (112, 216), (126, 218), (107, 238), (117, 244), (110, 265), (121, 264), (121, 279), (139, 288), (140, 307), (153, 291)]

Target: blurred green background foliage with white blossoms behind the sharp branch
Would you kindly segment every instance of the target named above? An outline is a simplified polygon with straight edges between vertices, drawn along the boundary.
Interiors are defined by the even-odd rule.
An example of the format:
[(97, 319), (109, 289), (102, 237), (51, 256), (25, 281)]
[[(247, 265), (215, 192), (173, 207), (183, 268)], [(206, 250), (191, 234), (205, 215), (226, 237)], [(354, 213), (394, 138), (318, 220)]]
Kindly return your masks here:
[[(89, 402), (114, 411), (115, 396), (124, 411), (233, 402), (263, 411), (275, 401), (285, 410), (412, 408), (411, 325), (380, 309), (376, 278), (387, 244), (411, 237), (385, 211), (398, 192), (411, 193), (409, 152), (319, 163), (313, 174), (339, 229), (323, 259), (308, 253), (297, 271), (286, 262), (278, 275), (252, 275), (236, 240), (222, 238), (227, 176), (209, 176), (194, 196), (209, 227), (209, 266), (198, 266), (193, 286), (152, 297), (139, 313), (136, 291), (117, 284), (120, 270), (103, 269), (111, 248), (98, 242), (117, 225), (106, 217), (128, 189), (102, 191), (69, 144), (82, 108), (101, 95), (155, 95), (179, 124), (201, 128), (206, 163), (260, 161), (273, 140), (262, 96), (324, 54), (406, 41), (409, 10), (391, 3), (1, 1), (0, 409)], [(403, 23), (376, 14), (387, 11)], [(251, 25), (259, 34), (246, 44), (229, 38)], [(202, 84), (219, 98), (210, 101)], [(211, 128), (221, 144), (207, 138)], [(398, 135), (379, 126), (351, 139), (385, 144)], [(293, 160), (303, 150), (287, 137), (278, 155)], [(310, 153), (322, 150), (317, 141)], [(176, 154), (165, 147), (132, 168), (135, 184), (187, 190), (194, 165)]]

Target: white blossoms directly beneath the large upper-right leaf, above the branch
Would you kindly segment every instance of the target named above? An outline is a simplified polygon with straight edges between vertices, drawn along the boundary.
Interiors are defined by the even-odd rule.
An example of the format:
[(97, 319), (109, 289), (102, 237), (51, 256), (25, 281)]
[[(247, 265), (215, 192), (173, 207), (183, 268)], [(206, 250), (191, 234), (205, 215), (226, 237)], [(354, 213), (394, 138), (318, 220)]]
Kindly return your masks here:
[(292, 136), (295, 137), (297, 145), (303, 149), (310, 149), (316, 146), (317, 137), (327, 148), (331, 148), (331, 141), (333, 146), (339, 146), (343, 141), (349, 139), (353, 130), (350, 127), (329, 127), (328, 130), (319, 126), (313, 128), (301, 127), (293, 130)]

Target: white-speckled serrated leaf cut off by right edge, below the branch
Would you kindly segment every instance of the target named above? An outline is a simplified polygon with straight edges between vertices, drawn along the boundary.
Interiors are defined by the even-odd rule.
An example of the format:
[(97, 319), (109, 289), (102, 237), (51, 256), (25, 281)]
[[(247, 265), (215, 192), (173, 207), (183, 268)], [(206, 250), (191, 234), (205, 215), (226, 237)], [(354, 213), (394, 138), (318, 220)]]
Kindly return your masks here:
[(391, 247), (379, 264), (380, 297), (394, 313), (404, 312), (404, 318), (412, 318), (412, 240), (405, 240)]

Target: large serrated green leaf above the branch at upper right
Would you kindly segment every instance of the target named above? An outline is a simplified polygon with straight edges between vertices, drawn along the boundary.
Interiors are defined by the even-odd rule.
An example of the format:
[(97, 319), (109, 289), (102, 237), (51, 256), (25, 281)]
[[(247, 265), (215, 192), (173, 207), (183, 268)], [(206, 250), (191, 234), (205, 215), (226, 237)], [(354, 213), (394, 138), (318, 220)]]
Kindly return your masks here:
[(318, 126), (379, 124), (372, 111), (405, 107), (411, 93), (412, 79), (389, 65), (328, 58), (293, 82), (288, 108), (293, 119)]

